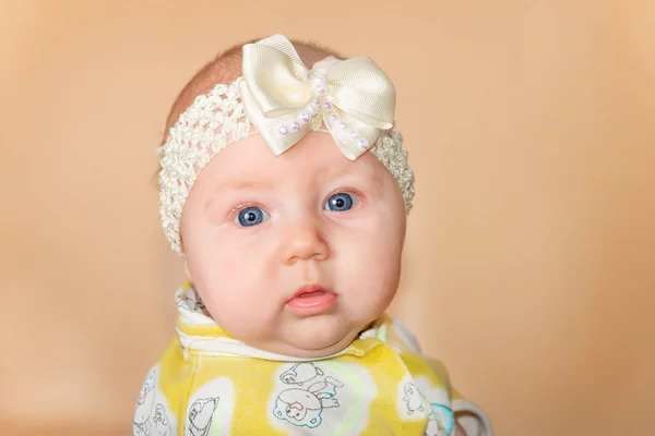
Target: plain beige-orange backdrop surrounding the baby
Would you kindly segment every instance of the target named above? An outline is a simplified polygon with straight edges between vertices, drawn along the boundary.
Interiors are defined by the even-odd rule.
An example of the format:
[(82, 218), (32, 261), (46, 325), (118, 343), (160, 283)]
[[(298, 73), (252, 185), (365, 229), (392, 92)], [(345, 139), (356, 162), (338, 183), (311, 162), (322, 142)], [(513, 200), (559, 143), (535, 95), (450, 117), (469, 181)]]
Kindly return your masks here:
[(168, 106), (279, 32), (395, 82), (418, 195), (394, 313), (497, 434), (652, 434), (654, 29), (647, 0), (1, 1), (0, 433), (129, 434), (181, 277)]

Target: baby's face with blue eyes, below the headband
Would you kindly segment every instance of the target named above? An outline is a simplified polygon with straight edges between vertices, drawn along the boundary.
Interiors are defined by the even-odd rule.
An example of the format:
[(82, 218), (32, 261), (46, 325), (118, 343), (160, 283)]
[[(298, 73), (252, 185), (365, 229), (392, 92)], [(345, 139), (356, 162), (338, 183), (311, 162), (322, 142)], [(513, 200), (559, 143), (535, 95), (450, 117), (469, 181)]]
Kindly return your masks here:
[(311, 132), (279, 156), (260, 135), (201, 171), (184, 206), (186, 269), (235, 338), (295, 356), (346, 348), (391, 303), (405, 206), (370, 153), (346, 159)]

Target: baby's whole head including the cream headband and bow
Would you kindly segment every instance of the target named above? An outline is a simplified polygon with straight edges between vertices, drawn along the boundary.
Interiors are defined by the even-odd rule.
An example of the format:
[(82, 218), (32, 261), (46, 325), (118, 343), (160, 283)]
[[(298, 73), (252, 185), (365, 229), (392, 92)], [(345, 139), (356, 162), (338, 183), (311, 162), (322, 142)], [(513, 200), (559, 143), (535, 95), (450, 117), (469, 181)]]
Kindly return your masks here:
[(278, 35), (229, 50), (182, 90), (162, 147), (162, 223), (206, 310), (303, 358), (386, 310), (414, 195), (393, 86), (331, 55)]

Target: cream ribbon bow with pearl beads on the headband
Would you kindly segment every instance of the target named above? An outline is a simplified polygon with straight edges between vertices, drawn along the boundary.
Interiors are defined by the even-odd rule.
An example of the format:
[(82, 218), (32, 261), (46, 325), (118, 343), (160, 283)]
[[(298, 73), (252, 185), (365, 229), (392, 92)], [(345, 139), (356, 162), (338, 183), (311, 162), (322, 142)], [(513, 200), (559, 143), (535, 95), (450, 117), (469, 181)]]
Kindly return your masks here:
[(393, 128), (395, 90), (370, 58), (329, 57), (309, 71), (291, 43), (274, 35), (243, 46), (242, 70), (243, 108), (274, 155), (324, 123), (355, 160)]

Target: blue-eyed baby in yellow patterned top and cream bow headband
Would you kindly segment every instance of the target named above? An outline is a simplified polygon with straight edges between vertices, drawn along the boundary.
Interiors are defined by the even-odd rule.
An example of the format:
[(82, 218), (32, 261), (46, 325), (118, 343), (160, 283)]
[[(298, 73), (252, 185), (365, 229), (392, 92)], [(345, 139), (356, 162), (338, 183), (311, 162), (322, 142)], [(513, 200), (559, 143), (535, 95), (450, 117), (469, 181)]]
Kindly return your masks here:
[(384, 315), (414, 175), (393, 84), (337, 58), (275, 35), (175, 102), (159, 213), (189, 282), (133, 435), (491, 434)]

